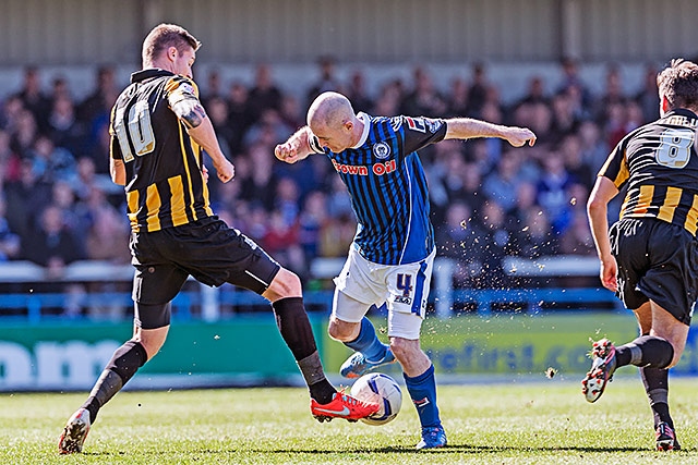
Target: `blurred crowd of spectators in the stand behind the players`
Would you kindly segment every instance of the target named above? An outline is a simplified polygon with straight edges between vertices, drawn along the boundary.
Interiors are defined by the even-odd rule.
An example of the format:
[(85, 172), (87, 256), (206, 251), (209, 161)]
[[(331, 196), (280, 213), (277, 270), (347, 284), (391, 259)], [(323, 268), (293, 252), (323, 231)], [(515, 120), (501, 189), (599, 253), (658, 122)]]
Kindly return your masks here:
[[(44, 88), (40, 73), (27, 68), (16, 93), (0, 102), (0, 260), (31, 260), (57, 277), (80, 259), (128, 264), (123, 189), (108, 175), (109, 111), (127, 83), (104, 66), (92, 93), (76, 99), (68, 77)], [(214, 211), (304, 279), (316, 257), (344, 257), (356, 220), (332, 163), (310, 157), (287, 164), (273, 155), (304, 124), (316, 95), (339, 90), (354, 110), (374, 115), (471, 117), (538, 135), (534, 147), (446, 140), (420, 152), (437, 254), (456, 260), (457, 286), (507, 285), (506, 256), (593, 254), (589, 191), (621, 137), (658, 118), (655, 70), (629, 93), (610, 66), (602, 95), (589, 91), (574, 61), (559, 73), (557, 88), (532, 77), (525, 95), (505, 105), (479, 64), (448, 88), (416, 68), (410, 79), (380, 83), (374, 95), (361, 71), (339, 79), (329, 59), (320, 62), (316, 83), (294, 95), (275, 84), (270, 65), (258, 65), (250, 85), (224, 82), (213, 70), (197, 76), (202, 101), (236, 166), (228, 184), (210, 178)]]

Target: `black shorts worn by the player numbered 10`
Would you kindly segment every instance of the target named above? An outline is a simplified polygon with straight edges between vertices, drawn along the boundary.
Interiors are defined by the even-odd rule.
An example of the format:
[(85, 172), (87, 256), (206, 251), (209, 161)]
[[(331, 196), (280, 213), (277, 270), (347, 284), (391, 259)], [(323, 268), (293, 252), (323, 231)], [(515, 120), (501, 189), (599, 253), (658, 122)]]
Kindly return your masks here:
[[(254, 241), (217, 217), (133, 233), (131, 253), (136, 269), (133, 299), (145, 306), (170, 302), (190, 274), (207, 285), (228, 282), (262, 294), (280, 269)], [(146, 318), (140, 315), (149, 328)]]

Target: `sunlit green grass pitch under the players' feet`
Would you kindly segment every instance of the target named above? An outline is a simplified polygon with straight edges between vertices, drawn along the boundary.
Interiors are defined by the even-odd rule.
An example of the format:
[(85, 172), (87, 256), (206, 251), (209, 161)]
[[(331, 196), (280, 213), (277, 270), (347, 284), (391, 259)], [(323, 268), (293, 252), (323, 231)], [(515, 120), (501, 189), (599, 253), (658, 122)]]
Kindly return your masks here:
[(122, 392), (100, 412), (84, 453), (67, 456), (57, 438), (85, 393), (4, 393), (0, 464), (690, 464), (698, 463), (695, 386), (671, 379), (684, 450), (669, 453), (653, 450), (649, 406), (633, 376), (595, 404), (578, 380), (559, 378), (440, 387), (448, 446), (420, 452), (405, 389), (402, 411), (381, 427), (318, 424), (300, 388)]

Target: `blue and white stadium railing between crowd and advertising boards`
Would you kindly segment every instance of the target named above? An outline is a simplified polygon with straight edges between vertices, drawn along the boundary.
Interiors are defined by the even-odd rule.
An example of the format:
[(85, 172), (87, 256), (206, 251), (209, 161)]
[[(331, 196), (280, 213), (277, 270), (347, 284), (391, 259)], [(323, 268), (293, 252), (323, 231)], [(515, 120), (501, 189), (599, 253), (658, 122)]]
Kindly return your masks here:
[[(329, 280), (337, 276), (344, 259), (318, 258), (310, 272), (315, 280)], [(557, 256), (535, 260), (509, 257), (503, 264), (508, 276), (527, 277), (532, 280), (551, 278), (571, 279), (570, 285), (531, 285), (512, 289), (454, 289), (454, 261), (438, 257), (434, 261), (433, 290), (430, 308), (440, 318), (448, 318), (458, 311), (476, 311), (486, 316), (493, 311), (517, 310), (535, 314), (553, 309), (618, 309), (618, 301), (602, 287), (577, 285), (578, 278), (598, 277), (595, 257)], [(119, 307), (121, 317), (131, 317), (130, 282), (133, 279), (131, 265), (113, 265), (98, 260), (76, 261), (65, 267), (56, 278), (48, 271), (28, 261), (0, 264), (0, 319), (21, 319), (38, 323), (44, 319), (65, 318), (61, 309), (70, 305), (81, 308), (99, 306)], [(598, 281), (598, 279), (597, 279)], [(533, 282), (533, 281), (532, 281)], [(81, 290), (40, 291), (45, 284), (80, 284)], [(94, 290), (91, 284), (120, 283), (124, 291)], [(36, 285), (35, 285), (36, 284)], [(20, 287), (17, 287), (20, 286)], [(99, 287), (99, 286), (97, 286)], [(127, 291), (125, 289), (129, 289)], [(309, 310), (327, 313), (332, 305), (330, 290), (306, 291), (304, 299)], [(172, 301), (173, 318), (180, 320), (202, 319), (216, 321), (243, 311), (266, 311), (266, 301), (248, 291), (224, 285), (209, 287), (193, 280)], [(82, 318), (82, 314), (71, 315)], [(87, 313), (87, 318), (99, 318)]]

